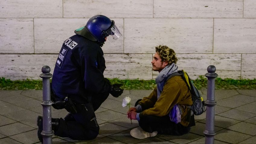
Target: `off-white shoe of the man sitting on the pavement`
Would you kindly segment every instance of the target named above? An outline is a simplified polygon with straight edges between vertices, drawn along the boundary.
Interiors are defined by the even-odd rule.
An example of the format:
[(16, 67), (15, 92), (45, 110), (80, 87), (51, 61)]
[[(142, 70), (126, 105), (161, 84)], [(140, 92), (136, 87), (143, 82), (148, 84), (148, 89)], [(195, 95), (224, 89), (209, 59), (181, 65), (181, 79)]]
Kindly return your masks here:
[(130, 131), (131, 136), (137, 139), (145, 139), (157, 135), (157, 131), (153, 133), (145, 132), (141, 127), (136, 127)]

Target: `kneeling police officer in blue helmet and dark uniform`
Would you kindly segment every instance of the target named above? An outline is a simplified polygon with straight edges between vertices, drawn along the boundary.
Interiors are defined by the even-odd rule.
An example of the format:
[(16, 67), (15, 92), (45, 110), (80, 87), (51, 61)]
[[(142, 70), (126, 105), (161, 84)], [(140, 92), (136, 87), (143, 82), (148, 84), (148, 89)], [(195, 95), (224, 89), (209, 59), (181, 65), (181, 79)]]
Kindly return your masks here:
[[(101, 49), (106, 39), (122, 37), (115, 22), (104, 15), (95, 15), (75, 30), (75, 35), (62, 44), (51, 83), (51, 99), (56, 109), (65, 108), (66, 117), (52, 118), (54, 135), (74, 140), (97, 137), (99, 126), (95, 111), (111, 94), (119, 97), (121, 85), (111, 85), (103, 72), (106, 68)], [(42, 142), (42, 117), (37, 118), (38, 138)]]

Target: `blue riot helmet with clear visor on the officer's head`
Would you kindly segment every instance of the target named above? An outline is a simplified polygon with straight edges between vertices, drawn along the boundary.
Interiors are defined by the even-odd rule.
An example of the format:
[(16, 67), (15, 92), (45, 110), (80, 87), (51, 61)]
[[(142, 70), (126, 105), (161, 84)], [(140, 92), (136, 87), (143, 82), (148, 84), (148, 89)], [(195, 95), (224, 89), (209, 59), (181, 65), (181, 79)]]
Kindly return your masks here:
[(110, 42), (116, 41), (118, 38), (122, 37), (115, 22), (104, 15), (91, 17), (85, 27), (75, 30), (75, 33), (89, 40), (98, 41), (99, 43), (104, 43), (105, 37), (107, 37)]

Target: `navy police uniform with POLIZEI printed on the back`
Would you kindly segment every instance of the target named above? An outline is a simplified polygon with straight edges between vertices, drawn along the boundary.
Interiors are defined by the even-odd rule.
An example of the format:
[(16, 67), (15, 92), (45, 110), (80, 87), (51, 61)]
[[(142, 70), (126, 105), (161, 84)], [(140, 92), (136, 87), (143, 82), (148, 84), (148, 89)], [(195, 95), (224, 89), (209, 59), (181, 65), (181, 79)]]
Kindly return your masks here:
[(110, 91), (110, 83), (103, 75), (105, 68), (104, 54), (98, 43), (78, 34), (63, 42), (53, 72), (52, 90), (55, 101), (68, 97), (79, 112), (72, 114), (73, 121), (59, 120), (56, 136), (94, 139), (98, 135), (94, 111)]

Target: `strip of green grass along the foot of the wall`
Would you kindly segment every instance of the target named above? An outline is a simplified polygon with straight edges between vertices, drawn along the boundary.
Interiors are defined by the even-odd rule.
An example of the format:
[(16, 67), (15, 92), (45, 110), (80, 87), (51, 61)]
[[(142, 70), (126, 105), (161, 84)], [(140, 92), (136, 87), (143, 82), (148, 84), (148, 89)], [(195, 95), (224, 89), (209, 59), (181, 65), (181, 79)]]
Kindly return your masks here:
[[(124, 89), (154, 89), (156, 84), (155, 80), (139, 80), (139, 79), (125, 79), (118, 78), (110, 79), (111, 84), (121, 83)], [(207, 88), (207, 78), (200, 76), (193, 80), (198, 89)], [(27, 89), (42, 89), (42, 80), (15, 80), (0, 78), (0, 90), (27, 90)], [(232, 78), (216, 78), (215, 89), (256, 89), (256, 79), (240, 79), (235, 80)]]

